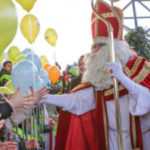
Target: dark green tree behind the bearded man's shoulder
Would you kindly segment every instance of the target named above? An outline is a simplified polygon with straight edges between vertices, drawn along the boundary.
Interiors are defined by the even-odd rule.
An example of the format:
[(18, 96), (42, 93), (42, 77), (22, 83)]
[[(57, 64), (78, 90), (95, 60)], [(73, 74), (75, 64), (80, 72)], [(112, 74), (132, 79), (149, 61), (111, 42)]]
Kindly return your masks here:
[(149, 35), (145, 33), (143, 27), (132, 29), (125, 35), (125, 40), (129, 43), (130, 47), (134, 49), (139, 56), (143, 56), (150, 60), (150, 41)]

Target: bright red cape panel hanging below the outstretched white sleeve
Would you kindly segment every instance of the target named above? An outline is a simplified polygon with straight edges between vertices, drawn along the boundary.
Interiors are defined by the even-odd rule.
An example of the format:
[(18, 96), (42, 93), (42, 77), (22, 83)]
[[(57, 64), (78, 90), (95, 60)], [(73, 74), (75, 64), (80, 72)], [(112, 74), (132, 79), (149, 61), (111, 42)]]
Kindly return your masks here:
[(94, 111), (84, 115), (71, 115), (65, 150), (98, 150), (94, 128)]

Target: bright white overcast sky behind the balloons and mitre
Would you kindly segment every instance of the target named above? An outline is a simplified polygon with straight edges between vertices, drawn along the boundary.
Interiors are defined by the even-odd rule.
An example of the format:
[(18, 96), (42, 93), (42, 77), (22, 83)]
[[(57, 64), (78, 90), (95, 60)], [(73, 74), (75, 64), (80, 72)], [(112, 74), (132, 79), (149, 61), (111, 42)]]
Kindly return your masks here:
[[(107, 2), (110, 2), (106, 0)], [(121, 0), (114, 3), (123, 8), (129, 0)], [(40, 32), (35, 42), (31, 45), (23, 37), (20, 31), (21, 19), (28, 13), (13, 0), (18, 15), (18, 29), (12, 43), (7, 47), (17, 46), (21, 51), (31, 48), (38, 55), (45, 55), (51, 65), (57, 61), (62, 69), (67, 64), (77, 62), (78, 58), (90, 52), (92, 44), (91, 37), (91, 0), (37, 0), (30, 14), (35, 15), (40, 23)], [(138, 15), (149, 13), (138, 4)], [(132, 14), (132, 7), (125, 11), (126, 16)], [(145, 15), (144, 14), (144, 15)], [(134, 28), (133, 21), (124, 21), (127, 25)], [(139, 24), (141, 25), (141, 24)], [(147, 20), (142, 20), (142, 25), (149, 26)], [(58, 34), (55, 47), (52, 47), (44, 39), (47, 28), (53, 28)], [(6, 50), (6, 51), (7, 51)]]

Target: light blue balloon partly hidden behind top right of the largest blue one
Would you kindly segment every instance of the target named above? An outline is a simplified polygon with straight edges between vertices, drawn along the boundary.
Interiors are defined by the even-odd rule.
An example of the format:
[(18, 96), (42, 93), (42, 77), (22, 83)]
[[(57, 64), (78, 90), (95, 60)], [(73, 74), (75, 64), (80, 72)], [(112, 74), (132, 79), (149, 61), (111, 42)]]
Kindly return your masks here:
[(36, 65), (36, 67), (37, 67), (37, 69), (38, 70), (40, 70), (41, 69), (41, 60), (40, 60), (40, 58), (39, 58), (39, 56), (38, 55), (36, 55), (36, 54), (28, 54), (26, 57), (25, 57), (25, 60), (30, 60), (30, 61), (32, 61), (35, 65)]

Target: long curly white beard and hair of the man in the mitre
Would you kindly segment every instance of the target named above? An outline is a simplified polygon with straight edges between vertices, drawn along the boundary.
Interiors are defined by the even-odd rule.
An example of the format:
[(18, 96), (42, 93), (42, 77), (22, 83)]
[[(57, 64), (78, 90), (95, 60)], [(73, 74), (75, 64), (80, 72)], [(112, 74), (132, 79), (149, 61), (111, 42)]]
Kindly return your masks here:
[[(113, 85), (113, 81), (109, 76), (109, 69), (106, 66), (110, 62), (109, 44), (107, 39), (96, 41), (96, 43), (106, 43), (99, 51), (91, 52), (85, 56), (85, 72), (82, 77), (83, 83), (91, 83), (96, 90), (109, 89)], [(116, 62), (122, 67), (136, 53), (132, 51), (125, 41), (114, 40)]]

